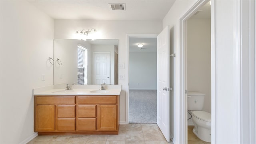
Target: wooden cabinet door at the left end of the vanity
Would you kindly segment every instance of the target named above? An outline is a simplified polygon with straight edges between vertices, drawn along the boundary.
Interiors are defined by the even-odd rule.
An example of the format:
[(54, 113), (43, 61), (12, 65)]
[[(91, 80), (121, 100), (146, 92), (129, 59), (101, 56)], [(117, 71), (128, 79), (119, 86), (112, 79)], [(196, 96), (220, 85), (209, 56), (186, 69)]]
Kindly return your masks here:
[(35, 131), (54, 131), (55, 130), (55, 106), (38, 105), (36, 106)]

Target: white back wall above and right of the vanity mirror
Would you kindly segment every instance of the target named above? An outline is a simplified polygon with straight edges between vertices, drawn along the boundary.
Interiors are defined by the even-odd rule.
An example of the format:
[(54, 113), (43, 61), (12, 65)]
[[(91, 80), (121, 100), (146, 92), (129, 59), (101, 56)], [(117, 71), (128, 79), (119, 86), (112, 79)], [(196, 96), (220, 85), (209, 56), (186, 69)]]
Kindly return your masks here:
[[(96, 28), (101, 32), (102, 39), (118, 39), (118, 62), (126, 64), (126, 34), (159, 34), (162, 30), (161, 21), (140, 20), (54, 20), (54, 38), (75, 38), (78, 29)], [(100, 39), (99, 38), (99, 39)], [(125, 69), (119, 69), (119, 74), (125, 74)], [(120, 94), (120, 123), (126, 122), (126, 82), (119, 79), (122, 84)]]

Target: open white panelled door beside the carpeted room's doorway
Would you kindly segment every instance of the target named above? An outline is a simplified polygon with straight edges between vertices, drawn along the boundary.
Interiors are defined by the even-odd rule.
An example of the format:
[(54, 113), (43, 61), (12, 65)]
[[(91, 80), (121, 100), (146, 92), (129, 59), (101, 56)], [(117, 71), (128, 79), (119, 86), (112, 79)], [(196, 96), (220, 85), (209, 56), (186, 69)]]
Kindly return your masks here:
[(157, 36), (157, 125), (170, 141), (170, 32), (169, 26)]

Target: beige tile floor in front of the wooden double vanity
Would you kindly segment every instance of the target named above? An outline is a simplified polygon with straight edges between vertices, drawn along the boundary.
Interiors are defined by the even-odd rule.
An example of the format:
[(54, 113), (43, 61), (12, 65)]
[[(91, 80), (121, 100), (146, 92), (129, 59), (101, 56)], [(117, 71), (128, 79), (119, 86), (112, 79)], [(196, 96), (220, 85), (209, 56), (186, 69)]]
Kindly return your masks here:
[(157, 124), (120, 125), (118, 135), (37, 136), (28, 144), (173, 144)]

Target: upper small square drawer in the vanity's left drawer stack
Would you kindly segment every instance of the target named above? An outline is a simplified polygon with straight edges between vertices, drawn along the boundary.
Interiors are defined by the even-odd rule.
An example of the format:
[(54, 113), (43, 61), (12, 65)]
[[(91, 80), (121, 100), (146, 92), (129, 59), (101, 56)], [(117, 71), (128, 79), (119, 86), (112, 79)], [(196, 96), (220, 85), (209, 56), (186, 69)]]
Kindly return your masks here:
[(58, 118), (75, 118), (76, 106), (57, 106)]

